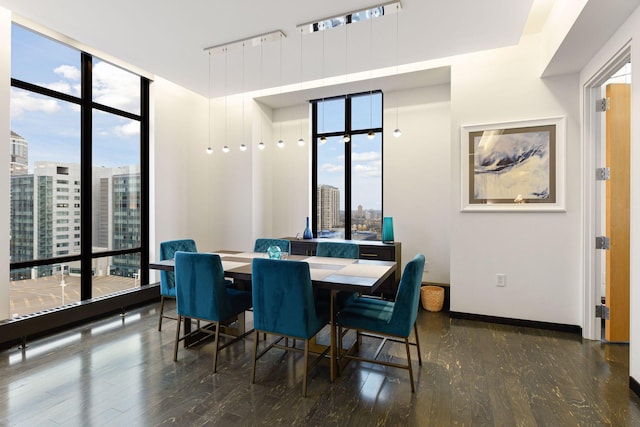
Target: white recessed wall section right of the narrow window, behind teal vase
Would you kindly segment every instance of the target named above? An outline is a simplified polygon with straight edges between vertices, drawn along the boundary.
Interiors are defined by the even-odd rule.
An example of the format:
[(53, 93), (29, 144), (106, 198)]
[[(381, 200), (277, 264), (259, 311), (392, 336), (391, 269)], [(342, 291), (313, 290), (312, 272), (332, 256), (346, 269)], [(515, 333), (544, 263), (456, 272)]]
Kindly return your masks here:
[[(449, 283), (450, 86), (385, 93), (383, 210), (393, 217), (403, 265), (427, 259), (423, 280)], [(400, 138), (392, 133), (396, 126)]]

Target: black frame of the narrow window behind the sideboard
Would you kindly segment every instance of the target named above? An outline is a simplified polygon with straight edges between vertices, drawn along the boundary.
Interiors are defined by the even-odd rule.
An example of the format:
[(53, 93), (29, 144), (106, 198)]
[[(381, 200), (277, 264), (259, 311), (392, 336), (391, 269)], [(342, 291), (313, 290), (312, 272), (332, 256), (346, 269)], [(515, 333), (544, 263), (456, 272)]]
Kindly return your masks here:
[[(363, 129), (352, 130), (352, 99), (360, 96), (371, 96), (373, 94), (380, 94), (380, 127), (369, 127)], [(333, 132), (318, 132), (318, 105), (321, 102), (344, 99), (344, 129)], [(382, 90), (371, 90), (367, 92), (358, 92), (348, 95), (333, 96), (327, 98), (314, 99), (309, 101), (312, 105), (311, 108), (311, 218), (312, 218), (312, 233), (314, 237), (318, 237), (318, 141), (321, 137), (336, 137), (349, 135), (351, 141), (353, 141), (354, 135), (366, 135), (370, 131), (380, 134), (380, 157), (382, 159), (382, 177), (381, 177), (381, 191), (380, 191), (380, 203), (384, 208), (384, 93)], [(345, 240), (351, 240), (351, 215), (352, 197), (351, 197), (351, 177), (352, 177), (352, 158), (351, 158), (351, 141), (344, 144), (344, 188), (345, 188), (345, 207), (344, 207), (344, 238)], [(348, 214), (349, 213), (349, 214)], [(384, 217), (384, 211), (381, 210), (381, 218)]]

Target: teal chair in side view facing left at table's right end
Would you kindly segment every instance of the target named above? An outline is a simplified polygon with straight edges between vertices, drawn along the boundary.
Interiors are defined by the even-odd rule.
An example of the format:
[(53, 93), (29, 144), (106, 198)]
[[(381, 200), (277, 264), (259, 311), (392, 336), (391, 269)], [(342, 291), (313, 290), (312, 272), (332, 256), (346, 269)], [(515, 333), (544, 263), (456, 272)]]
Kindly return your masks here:
[[(364, 331), (373, 333), (375, 336), (383, 336), (385, 340), (404, 342), (407, 351), (406, 365), (377, 360), (378, 353), (385, 344), (385, 341), (378, 347), (378, 353), (376, 353), (373, 359), (365, 359), (352, 355), (345, 355), (344, 357), (408, 369), (412, 393), (415, 392), (415, 386), (413, 384), (413, 369), (411, 368), (411, 354), (409, 352), (410, 344), (417, 347), (418, 363), (422, 365), (416, 317), (418, 315), (418, 297), (420, 296), (423, 270), (424, 255), (418, 254), (409, 261), (404, 268), (395, 302), (371, 297), (358, 297), (346, 304), (342, 310), (338, 312), (336, 317), (336, 323), (338, 325), (338, 354), (342, 354), (342, 328), (356, 329), (358, 340), (361, 331)], [(415, 343), (409, 342), (411, 329), (415, 332)], [(362, 335), (367, 334), (363, 333)]]

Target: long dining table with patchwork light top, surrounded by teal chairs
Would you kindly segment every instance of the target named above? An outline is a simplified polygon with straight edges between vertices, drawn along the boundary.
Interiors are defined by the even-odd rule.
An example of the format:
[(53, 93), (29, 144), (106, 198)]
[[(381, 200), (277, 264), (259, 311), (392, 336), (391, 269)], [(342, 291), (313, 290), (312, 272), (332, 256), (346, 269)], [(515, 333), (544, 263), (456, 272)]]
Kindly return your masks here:
[[(225, 277), (232, 278), (239, 283), (251, 281), (254, 258), (267, 257), (267, 254), (263, 252), (220, 250), (209, 253), (220, 255)], [(283, 258), (308, 263), (313, 287), (330, 291), (330, 363), (331, 380), (333, 381), (338, 375), (336, 295), (339, 292), (357, 292), (364, 295), (375, 293), (376, 289), (396, 271), (396, 263), (394, 261), (287, 254), (284, 254)], [(174, 261), (173, 259), (153, 261), (149, 263), (149, 268), (173, 271)], [(185, 322), (185, 327), (188, 324), (190, 325), (190, 322)]]

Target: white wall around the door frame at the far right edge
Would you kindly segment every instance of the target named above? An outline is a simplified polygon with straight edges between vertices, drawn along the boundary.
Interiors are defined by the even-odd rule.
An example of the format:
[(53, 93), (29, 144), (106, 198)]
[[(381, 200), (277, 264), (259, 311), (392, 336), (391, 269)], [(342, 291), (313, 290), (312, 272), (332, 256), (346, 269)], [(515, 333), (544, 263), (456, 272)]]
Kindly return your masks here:
[[(640, 9), (629, 17), (605, 46), (594, 56), (580, 73), (580, 87), (600, 73), (600, 70), (628, 43), (631, 44), (631, 271), (630, 271), (630, 344), (629, 375), (640, 381), (640, 72), (637, 59), (640, 58)], [(634, 66), (634, 62), (636, 65)], [(635, 69), (634, 69), (635, 68)]]

